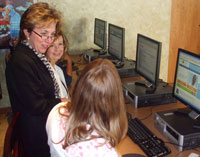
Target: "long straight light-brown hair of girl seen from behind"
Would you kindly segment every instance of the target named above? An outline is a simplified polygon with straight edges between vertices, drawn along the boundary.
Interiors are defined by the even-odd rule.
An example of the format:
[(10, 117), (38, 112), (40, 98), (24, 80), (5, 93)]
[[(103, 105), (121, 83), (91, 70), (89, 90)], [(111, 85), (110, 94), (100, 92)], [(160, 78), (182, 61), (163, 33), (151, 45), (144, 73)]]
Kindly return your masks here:
[[(127, 116), (119, 74), (107, 59), (87, 65), (72, 93), (65, 144), (88, 140), (93, 131), (115, 147), (127, 132)], [(90, 129), (86, 125), (90, 125)]]

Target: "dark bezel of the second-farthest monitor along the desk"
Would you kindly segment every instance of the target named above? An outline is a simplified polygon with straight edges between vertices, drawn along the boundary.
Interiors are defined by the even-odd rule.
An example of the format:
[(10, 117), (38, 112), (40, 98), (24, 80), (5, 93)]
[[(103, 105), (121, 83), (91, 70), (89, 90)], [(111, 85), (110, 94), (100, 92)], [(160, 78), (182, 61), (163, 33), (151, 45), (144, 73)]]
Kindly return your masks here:
[[(120, 31), (122, 31), (122, 42), (121, 42), (121, 57), (119, 58), (118, 56), (116, 56), (115, 54), (112, 53), (112, 51), (110, 50), (110, 35), (111, 35), (111, 27), (114, 27), (116, 29), (119, 29)], [(125, 56), (125, 28), (122, 28), (120, 26), (114, 25), (109, 23), (108, 25), (108, 53), (114, 57), (114, 59), (117, 59), (121, 62), (123, 62), (124, 60), (124, 56)]]

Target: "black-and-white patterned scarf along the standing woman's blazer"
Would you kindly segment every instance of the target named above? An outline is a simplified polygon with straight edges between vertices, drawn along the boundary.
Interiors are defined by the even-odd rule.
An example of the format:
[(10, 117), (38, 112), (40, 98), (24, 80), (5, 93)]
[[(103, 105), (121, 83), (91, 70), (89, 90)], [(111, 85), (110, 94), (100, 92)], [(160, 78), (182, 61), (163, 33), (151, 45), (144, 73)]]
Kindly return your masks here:
[(44, 54), (38, 53), (26, 40), (22, 41), (21, 43), (28, 46), (30, 49), (32, 49), (33, 52), (36, 54), (36, 56), (44, 63), (44, 65), (48, 69), (48, 71), (51, 74), (51, 77), (53, 79), (54, 88), (55, 88), (55, 92), (54, 92), (55, 98), (61, 98), (59, 85), (56, 81), (55, 75), (53, 73), (53, 70), (51, 69), (51, 65), (50, 65), (49, 61), (47, 60), (46, 56)]

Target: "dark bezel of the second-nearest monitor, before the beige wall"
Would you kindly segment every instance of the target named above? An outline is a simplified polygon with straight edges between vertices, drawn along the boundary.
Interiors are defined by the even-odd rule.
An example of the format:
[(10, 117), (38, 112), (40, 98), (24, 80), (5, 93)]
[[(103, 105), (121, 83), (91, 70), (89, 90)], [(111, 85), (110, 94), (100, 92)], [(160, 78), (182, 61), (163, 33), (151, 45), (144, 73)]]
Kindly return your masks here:
[[(138, 70), (138, 57), (139, 57), (139, 38), (144, 38), (150, 42), (153, 42), (154, 44), (156, 44), (158, 46), (157, 49), (157, 59), (156, 59), (156, 71), (155, 71), (155, 78), (154, 80), (152, 80), (151, 78), (149, 78), (147, 75), (145, 75), (144, 73), (142, 73), (141, 71)], [(144, 36), (142, 34), (137, 34), (137, 48), (136, 48), (136, 65), (135, 65), (135, 71), (141, 75), (142, 77), (144, 77), (146, 80), (148, 80), (151, 84), (157, 86), (159, 84), (159, 74), (160, 74), (160, 60), (161, 60), (161, 48), (162, 48), (162, 43), (159, 41), (156, 41), (150, 37)]]

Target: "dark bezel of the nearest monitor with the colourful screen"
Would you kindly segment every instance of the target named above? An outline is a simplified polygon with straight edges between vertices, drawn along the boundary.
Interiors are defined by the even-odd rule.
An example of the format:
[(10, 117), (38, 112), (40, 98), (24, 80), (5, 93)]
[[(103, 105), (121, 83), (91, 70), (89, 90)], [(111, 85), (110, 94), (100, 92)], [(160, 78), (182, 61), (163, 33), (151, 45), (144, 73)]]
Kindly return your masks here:
[(189, 108), (191, 108), (192, 110), (194, 110), (195, 112), (197, 113), (200, 113), (200, 108), (196, 108), (194, 105), (192, 105), (190, 102), (188, 102), (187, 100), (184, 100), (184, 99), (181, 99), (180, 97), (178, 97), (176, 94), (175, 94), (175, 89), (176, 89), (176, 80), (177, 80), (177, 71), (178, 71), (178, 62), (179, 62), (179, 57), (180, 57), (180, 53), (183, 52), (187, 55), (190, 55), (192, 57), (195, 57), (195, 58), (199, 58), (199, 61), (200, 61), (200, 55), (198, 54), (195, 54), (195, 53), (192, 53), (188, 50), (184, 50), (184, 49), (181, 49), (179, 48), (178, 49), (178, 55), (177, 55), (177, 60), (176, 60), (176, 70), (175, 70), (175, 74), (174, 74), (174, 85), (173, 85), (173, 97), (175, 97), (177, 100), (179, 100), (180, 102), (182, 102), (184, 105), (188, 106)]

